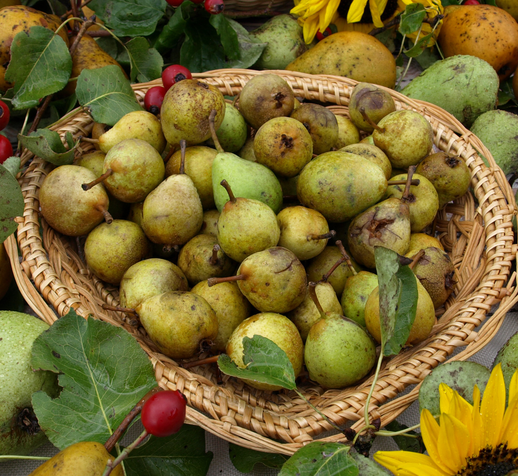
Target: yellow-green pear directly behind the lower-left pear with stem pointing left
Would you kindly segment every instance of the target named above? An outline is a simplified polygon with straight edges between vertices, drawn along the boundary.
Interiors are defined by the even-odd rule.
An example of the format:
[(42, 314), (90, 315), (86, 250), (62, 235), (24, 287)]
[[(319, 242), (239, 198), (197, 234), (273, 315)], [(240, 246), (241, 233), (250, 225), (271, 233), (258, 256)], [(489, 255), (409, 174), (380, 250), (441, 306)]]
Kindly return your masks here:
[(150, 258), (135, 263), (124, 273), (119, 299), (122, 307), (135, 309), (151, 296), (188, 289), (187, 278), (176, 264), (160, 258)]

